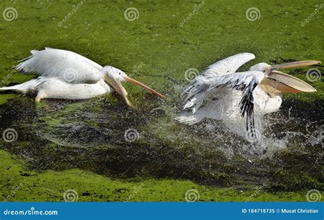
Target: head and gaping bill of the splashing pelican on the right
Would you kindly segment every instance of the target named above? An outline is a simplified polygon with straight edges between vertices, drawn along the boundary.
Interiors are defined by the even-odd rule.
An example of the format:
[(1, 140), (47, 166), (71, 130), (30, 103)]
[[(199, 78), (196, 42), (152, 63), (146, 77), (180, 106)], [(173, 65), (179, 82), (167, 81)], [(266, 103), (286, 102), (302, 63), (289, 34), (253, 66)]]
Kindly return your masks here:
[(316, 92), (314, 87), (308, 83), (288, 75), (278, 70), (284, 68), (299, 68), (304, 66), (311, 66), (321, 64), (321, 61), (306, 60), (295, 61), (287, 64), (278, 64), (270, 66), (266, 63), (260, 63), (252, 66), (249, 70), (260, 71), (265, 73), (265, 79), (260, 83), (262, 90), (267, 92), (270, 96), (282, 93), (301, 93), (301, 92)]

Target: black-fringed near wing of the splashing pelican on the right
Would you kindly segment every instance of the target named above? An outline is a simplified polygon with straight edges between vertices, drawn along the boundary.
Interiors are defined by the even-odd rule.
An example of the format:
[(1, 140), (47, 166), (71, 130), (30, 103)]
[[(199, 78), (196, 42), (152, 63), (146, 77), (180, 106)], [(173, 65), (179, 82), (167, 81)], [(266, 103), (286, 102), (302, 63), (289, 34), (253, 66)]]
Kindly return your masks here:
[(265, 78), (265, 74), (259, 71), (234, 72), (218, 77), (210, 81), (196, 82), (185, 90), (186, 104), (184, 109), (191, 109), (193, 113), (199, 109), (204, 101), (204, 93), (217, 92), (219, 88), (229, 88), (243, 91), (243, 97), (239, 103), (242, 117), (246, 117), (247, 131), (254, 137), (254, 97), (253, 91)]

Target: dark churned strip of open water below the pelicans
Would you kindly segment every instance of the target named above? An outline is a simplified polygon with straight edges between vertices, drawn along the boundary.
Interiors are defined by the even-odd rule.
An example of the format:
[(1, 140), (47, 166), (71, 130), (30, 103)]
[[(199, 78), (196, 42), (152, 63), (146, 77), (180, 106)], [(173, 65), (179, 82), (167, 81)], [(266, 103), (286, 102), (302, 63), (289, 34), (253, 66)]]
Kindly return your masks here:
[[(21, 96), (1, 105), (1, 131), (14, 128), (18, 135), (12, 143), (2, 141), (1, 148), (38, 170), (79, 168), (118, 178), (293, 190), (323, 182), (323, 100), (285, 101), (280, 111), (265, 116), (260, 141), (249, 143), (221, 122), (178, 124), (172, 120), (178, 111), (173, 100), (150, 99), (150, 105), (129, 109), (106, 98), (36, 106)], [(305, 175), (304, 182), (291, 179)]]

